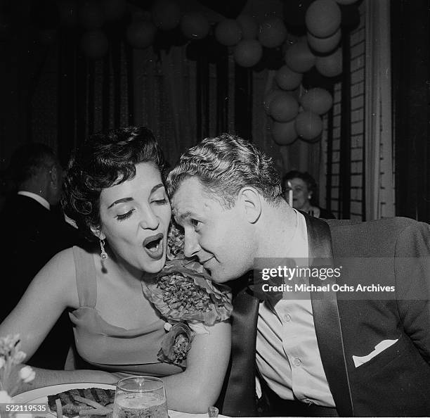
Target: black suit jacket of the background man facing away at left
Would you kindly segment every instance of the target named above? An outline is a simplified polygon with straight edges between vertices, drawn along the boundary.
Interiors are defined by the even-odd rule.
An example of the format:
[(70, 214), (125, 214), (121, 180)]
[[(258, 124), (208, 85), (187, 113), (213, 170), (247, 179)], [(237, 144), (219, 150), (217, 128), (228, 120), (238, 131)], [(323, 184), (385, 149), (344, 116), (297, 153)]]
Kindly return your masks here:
[[(0, 268), (2, 295), (0, 322), (15, 308), (33, 277), (53, 255), (82, 243), (77, 231), (53, 210), (34, 199), (15, 195), (6, 201), (0, 215)], [(7, 291), (6, 291), (7, 289)], [(63, 369), (72, 341), (67, 312), (60, 317), (30, 365)]]

